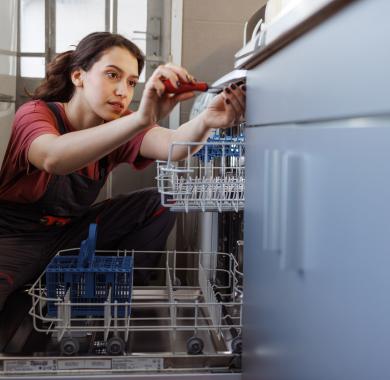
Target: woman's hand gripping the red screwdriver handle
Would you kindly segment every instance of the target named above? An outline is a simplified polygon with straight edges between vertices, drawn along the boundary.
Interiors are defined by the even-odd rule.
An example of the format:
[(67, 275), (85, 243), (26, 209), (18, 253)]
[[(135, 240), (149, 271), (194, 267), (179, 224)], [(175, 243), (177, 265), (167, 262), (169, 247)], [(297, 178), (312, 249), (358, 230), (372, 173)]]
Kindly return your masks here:
[(177, 103), (191, 99), (195, 95), (193, 92), (181, 94), (166, 93), (164, 80), (167, 79), (174, 87), (178, 87), (180, 82), (195, 82), (194, 77), (183, 67), (173, 65), (172, 63), (160, 65), (146, 82), (140, 106), (135, 113), (136, 115), (134, 115), (142, 126), (148, 127), (156, 124), (167, 116)]

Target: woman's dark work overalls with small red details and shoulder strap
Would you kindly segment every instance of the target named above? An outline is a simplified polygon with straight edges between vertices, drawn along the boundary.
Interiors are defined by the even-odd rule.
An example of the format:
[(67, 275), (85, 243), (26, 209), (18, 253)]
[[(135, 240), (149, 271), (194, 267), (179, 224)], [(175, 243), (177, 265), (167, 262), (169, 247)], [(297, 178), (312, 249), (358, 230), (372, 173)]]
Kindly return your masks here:
[[(67, 133), (55, 103), (48, 103), (61, 134)], [(160, 203), (155, 189), (144, 189), (93, 204), (107, 177), (107, 160), (99, 161), (100, 178), (72, 173), (53, 175), (35, 203), (0, 201), (0, 310), (7, 296), (35, 281), (60, 249), (76, 248), (98, 220), (97, 249), (161, 251), (175, 216)], [(44, 217), (63, 217), (65, 225), (47, 225)], [(47, 218), (46, 218), (47, 221)], [(135, 266), (158, 265), (158, 254), (136, 255)], [(149, 271), (136, 271), (135, 284), (145, 285)]]

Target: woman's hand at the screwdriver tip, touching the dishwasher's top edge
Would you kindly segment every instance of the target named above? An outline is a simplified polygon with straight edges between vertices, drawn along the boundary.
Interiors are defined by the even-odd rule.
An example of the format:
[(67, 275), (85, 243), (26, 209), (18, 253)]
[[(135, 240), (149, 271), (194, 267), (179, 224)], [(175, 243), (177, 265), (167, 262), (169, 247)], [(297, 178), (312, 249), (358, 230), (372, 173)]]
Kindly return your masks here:
[(245, 84), (232, 83), (217, 95), (203, 113), (207, 128), (229, 128), (243, 120), (245, 114)]

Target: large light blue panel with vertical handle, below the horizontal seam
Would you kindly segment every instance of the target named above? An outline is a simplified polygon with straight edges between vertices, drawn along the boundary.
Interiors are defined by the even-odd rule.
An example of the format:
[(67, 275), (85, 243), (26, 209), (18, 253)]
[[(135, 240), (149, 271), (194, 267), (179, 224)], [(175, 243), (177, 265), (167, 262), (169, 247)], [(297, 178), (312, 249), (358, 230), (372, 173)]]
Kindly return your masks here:
[(390, 118), (246, 133), (243, 379), (390, 378)]

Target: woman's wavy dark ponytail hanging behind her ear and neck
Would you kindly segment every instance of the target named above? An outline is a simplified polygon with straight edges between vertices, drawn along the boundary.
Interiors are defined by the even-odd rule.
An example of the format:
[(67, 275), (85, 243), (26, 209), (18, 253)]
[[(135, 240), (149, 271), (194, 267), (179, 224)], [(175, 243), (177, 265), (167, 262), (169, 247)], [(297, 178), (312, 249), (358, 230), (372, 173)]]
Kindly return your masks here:
[(45, 102), (70, 100), (74, 92), (70, 77), (73, 53), (73, 50), (68, 50), (58, 54), (47, 65), (45, 80), (32, 94), (33, 99), (41, 99)]

